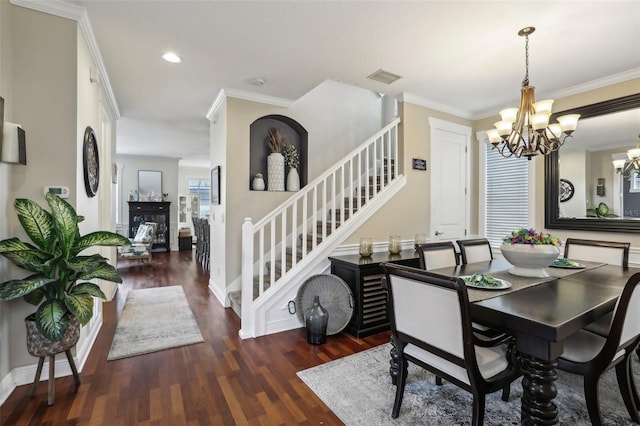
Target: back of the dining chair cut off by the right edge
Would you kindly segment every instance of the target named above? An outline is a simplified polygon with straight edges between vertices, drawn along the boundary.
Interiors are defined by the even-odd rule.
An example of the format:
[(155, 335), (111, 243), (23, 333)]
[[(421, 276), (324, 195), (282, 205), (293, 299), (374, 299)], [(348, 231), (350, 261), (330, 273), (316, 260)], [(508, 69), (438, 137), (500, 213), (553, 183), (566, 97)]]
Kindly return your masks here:
[(611, 321), (609, 337), (600, 352), (605, 362), (615, 357), (616, 353), (625, 348), (633, 350), (640, 339), (640, 272), (627, 280), (618, 298)]

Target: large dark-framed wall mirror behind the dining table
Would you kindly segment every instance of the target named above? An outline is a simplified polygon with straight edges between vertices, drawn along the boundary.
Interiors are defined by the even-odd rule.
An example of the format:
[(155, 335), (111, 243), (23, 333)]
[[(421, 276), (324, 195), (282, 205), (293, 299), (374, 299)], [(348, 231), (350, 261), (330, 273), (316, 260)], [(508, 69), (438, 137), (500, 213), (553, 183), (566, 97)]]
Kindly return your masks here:
[(640, 178), (613, 166), (638, 142), (640, 94), (554, 115), (569, 113), (581, 114), (573, 139), (545, 158), (545, 227), (640, 232)]

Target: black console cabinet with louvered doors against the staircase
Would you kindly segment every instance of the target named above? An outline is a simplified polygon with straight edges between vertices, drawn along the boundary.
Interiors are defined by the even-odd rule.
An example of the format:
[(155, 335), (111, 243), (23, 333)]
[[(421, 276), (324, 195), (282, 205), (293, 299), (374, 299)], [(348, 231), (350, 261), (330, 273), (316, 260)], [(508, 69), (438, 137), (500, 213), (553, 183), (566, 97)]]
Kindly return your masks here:
[(389, 330), (387, 291), (382, 287), (384, 273), (380, 264), (397, 263), (418, 268), (418, 253), (415, 250), (403, 250), (399, 254), (373, 253), (371, 257), (359, 254), (331, 256), (329, 260), (331, 273), (347, 283), (356, 304), (346, 330), (357, 338)]

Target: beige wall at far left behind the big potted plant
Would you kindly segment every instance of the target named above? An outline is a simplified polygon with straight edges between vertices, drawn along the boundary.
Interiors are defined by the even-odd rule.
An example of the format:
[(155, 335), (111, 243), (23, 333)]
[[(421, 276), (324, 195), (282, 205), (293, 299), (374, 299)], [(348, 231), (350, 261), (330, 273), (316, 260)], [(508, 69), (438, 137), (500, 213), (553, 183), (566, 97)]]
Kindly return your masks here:
[[(69, 203), (86, 218), (81, 233), (96, 231), (102, 223), (110, 223), (110, 179), (106, 177), (110, 167), (101, 164), (99, 194), (88, 197), (83, 135), (86, 126), (96, 130), (101, 160), (109, 163), (113, 141), (102, 139), (101, 130), (112, 124), (105, 121), (102, 88), (89, 81), (94, 63), (78, 23), (5, 1), (0, 2), (0, 22), (0, 96), (6, 101), (5, 118), (25, 129), (27, 148), (26, 165), (0, 164), (0, 214), (5, 218), (0, 221), (0, 238), (28, 240), (13, 200), (29, 198), (46, 207), (43, 188), (52, 184), (69, 187)], [(0, 282), (25, 274), (0, 259)], [(98, 315), (83, 328), (75, 349), (80, 369), (102, 324), (100, 308), (96, 303)], [(0, 401), (16, 384), (33, 380), (37, 359), (27, 353), (24, 325), (32, 312), (34, 307), (23, 300), (0, 302)], [(70, 372), (64, 355), (60, 366), (63, 359), (65, 367), (56, 368), (57, 375)]]

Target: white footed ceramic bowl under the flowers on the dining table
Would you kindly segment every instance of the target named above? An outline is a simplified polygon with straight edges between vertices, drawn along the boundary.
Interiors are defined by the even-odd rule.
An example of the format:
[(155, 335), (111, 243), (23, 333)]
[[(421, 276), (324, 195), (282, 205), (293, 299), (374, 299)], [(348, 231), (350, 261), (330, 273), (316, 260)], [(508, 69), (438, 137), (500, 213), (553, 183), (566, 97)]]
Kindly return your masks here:
[(551, 244), (503, 244), (500, 251), (513, 265), (510, 274), (535, 278), (548, 277), (545, 268), (560, 254), (560, 249)]

